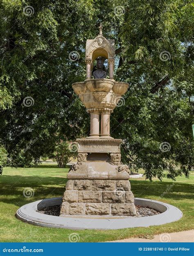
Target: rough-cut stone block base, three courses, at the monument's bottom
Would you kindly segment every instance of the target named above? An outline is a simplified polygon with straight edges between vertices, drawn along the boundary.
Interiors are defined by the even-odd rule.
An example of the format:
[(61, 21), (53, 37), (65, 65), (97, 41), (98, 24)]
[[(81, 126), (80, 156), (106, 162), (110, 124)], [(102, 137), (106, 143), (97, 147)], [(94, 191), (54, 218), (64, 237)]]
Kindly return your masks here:
[(60, 216), (135, 216), (134, 196), (129, 180), (69, 179)]

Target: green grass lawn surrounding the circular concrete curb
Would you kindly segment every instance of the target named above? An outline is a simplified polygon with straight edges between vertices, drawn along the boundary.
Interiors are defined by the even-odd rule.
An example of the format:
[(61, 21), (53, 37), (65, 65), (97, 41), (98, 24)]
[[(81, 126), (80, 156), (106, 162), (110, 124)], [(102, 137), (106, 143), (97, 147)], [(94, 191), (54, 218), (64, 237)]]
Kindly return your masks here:
[[(153, 182), (145, 179), (131, 179), (131, 190), (135, 197), (160, 200), (172, 204), (183, 211), (183, 217), (177, 222), (147, 228), (120, 230), (68, 230), (37, 227), (16, 219), (17, 209), (27, 203), (50, 197), (61, 197), (67, 182), (68, 169), (59, 169), (56, 165), (44, 164), (37, 168), (4, 168), (0, 177), (0, 241), (1, 242), (69, 242), (71, 233), (78, 233), (80, 242), (101, 242), (117, 240), (139, 235), (155, 235), (193, 229), (193, 181), (178, 177), (176, 181), (164, 179)], [(168, 190), (174, 182), (174, 186)], [(24, 188), (33, 188), (34, 196), (25, 198)], [(162, 193), (168, 191), (163, 197)]]

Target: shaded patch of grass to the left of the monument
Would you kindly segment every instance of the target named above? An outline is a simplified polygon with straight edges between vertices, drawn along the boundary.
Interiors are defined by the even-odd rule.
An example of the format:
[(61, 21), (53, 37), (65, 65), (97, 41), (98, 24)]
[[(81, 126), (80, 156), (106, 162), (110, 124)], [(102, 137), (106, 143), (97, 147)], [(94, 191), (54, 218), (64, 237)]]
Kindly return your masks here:
[[(3, 175), (0, 177), (0, 201), (22, 206), (44, 198), (62, 197), (67, 181), (66, 177)], [(33, 197), (23, 195), (25, 188), (32, 188)]]

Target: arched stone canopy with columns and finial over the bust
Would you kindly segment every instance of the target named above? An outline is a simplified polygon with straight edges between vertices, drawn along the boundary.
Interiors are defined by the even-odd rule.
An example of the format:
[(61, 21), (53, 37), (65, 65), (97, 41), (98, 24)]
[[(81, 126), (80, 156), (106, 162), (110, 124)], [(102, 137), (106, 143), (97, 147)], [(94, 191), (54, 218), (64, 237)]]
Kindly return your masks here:
[(86, 78), (91, 78), (91, 70), (97, 58), (108, 59), (109, 78), (113, 79), (115, 64), (115, 40), (106, 39), (102, 35), (102, 24), (99, 26), (99, 35), (95, 39), (86, 41)]

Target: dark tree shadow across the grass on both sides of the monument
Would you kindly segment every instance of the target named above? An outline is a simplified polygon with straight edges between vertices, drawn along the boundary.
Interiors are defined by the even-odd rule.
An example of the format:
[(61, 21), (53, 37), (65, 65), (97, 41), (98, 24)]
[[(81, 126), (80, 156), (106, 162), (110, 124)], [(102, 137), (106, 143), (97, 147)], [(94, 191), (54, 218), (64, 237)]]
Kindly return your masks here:
[[(193, 198), (192, 184), (165, 181), (131, 180), (131, 190), (135, 197), (152, 198), (164, 201), (184, 200)], [(3, 175), (0, 177), (1, 201), (8, 204), (22, 206), (39, 199), (62, 196), (65, 190), (67, 178)], [(32, 188), (34, 196), (25, 198), (24, 188)]]

